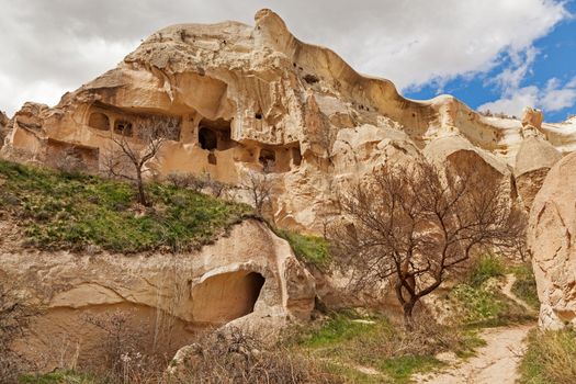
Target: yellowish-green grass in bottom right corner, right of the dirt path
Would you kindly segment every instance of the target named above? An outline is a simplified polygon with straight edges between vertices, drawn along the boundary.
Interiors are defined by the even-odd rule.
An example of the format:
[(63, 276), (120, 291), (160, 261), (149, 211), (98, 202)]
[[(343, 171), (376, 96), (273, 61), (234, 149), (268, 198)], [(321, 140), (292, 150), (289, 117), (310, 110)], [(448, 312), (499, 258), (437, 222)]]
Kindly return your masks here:
[(575, 383), (576, 332), (531, 330), (519, 370), (520, 384)]

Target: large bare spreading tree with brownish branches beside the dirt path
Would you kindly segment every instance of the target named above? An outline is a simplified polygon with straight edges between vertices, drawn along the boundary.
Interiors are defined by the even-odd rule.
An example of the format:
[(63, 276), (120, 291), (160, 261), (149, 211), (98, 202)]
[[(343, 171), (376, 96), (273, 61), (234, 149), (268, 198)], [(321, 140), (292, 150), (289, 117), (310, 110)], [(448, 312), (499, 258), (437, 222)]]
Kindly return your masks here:
[(410, 327), (416, 303), (477, 250), (511, 250), (523, 236), (523, 215), (501, 183), (482, 174), (419, 161), (352, 185), (340, 199), (347, 221), (329, 238), (353, 286), (391, 281)]

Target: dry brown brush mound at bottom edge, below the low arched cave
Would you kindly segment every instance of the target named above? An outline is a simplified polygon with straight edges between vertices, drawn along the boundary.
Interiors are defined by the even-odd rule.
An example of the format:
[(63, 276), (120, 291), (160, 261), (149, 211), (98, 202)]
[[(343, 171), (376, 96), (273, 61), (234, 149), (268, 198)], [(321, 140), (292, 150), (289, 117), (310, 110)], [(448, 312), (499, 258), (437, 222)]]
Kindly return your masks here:
[(190, 349), (173, 383), (338, 383), (304, 357), (284, 347), (267, 349), (238, 328), (208, 334)]

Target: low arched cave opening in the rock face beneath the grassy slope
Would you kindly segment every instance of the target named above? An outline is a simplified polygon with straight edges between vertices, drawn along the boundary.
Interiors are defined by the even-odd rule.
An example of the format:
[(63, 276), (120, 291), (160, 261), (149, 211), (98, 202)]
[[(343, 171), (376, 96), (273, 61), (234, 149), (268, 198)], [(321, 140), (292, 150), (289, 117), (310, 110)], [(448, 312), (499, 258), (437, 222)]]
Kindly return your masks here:
[(258, 272), (216, 274), (192, 290), (192, 316), (203, 324), (225, 324), (253, 312), (266, 279)]

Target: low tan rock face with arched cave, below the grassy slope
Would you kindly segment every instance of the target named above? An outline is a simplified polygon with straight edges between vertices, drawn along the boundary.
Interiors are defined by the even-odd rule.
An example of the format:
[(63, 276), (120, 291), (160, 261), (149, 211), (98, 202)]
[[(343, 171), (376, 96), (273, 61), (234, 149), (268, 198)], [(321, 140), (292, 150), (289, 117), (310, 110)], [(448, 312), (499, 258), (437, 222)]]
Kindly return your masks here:
[(101, 359), (105, 335), (90, 319), (118, 310), (131, 332), (147, 335), (148, 348), (173, 353), (206, 328), (274, 331), (307, 319), (315, 297), (314, 279), (287, 242), (255, 221), (192, 255), (0, 253), (0, 278), (45, 307), (19, 346), (35, 361), (45, 357), (43, 370), (68, 368), (61, 362), (76, 354), (84, 365)]

